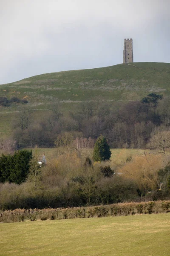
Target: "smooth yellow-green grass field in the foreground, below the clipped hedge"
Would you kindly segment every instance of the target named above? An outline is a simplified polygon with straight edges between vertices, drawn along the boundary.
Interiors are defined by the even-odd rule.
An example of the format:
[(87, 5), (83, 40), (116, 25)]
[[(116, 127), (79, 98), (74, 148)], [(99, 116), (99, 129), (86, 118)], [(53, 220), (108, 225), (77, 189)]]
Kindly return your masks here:
[(0, 256), (169, 256), (170, 213), (0, 224)]

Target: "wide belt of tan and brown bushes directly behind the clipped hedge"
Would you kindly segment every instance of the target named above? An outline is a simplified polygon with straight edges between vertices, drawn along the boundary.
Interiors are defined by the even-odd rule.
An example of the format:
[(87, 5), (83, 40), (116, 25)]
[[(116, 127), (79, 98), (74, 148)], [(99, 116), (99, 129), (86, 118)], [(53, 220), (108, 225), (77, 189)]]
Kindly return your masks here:
[[(36, 154), (37, 157), (32, 157), (28, 170), (24, 169), (28, 165), (20, 166), (20, 163), (26, 164), (24, 152), (0, 158), (4, 160), (0, 162), (2, 167), (2, 163), (5, 166), (12, 157), (15, 159), (17, 156), (11, 161), (11, 165), (6, 165), (6, 169), (0, 169), (1, 178), (9, 174), (8, 181), (0, 183), (2, 210), (67, 208), (170, 198), (170, 164), (159, 170), (162, 163), (165, 164), (168, 160), (163, 156), (149, 154), (133, 157), (127, 162), (125, 157), (124, 166), (118, 169), (112, 162), (94, 163), (89, 157), (79, 157), (76, 152), (72, 152), (58, 155), (40, 168), (37, 166), (39, 156)], [(26, 153), (31, 157), (30, 151)], [(16, 184), (11, 182), (12, 179)]]

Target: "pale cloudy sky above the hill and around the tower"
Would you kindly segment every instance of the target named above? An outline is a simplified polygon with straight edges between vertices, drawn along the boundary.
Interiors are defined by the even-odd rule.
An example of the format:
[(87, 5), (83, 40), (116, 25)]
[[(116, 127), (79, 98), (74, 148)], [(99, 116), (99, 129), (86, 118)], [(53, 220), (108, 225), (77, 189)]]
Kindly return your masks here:
[(0, 0), (0, 84), (123, 62), (170, 62), (170, 0)]

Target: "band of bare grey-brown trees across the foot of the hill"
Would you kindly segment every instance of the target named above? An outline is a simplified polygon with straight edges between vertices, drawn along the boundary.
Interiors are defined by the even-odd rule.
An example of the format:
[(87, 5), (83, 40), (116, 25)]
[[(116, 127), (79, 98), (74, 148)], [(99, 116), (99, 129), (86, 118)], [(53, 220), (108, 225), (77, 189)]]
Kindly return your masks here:
[(18, 148), (54, 147), (65, 134), (68, 140), (81, 141), (95, 141), (103, 134), (113, 148), (144, 148), (156, 128), (169, 130), (170, 98), (150, 93), (141, 101), (124, 104), (98, 99), (77, 104), (68, 116), (63, 115), (59, 102), (54, 102), (48, 117), (40, 121), (34, 119), (33, 110), (23, 108), (13, 127)]

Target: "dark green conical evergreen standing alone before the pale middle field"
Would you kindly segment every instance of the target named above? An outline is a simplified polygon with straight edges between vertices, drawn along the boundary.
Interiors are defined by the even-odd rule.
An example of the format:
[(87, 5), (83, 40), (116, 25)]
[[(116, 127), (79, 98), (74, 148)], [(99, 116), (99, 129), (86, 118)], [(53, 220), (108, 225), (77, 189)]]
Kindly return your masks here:
[(94, 161), (105, 161), (111, 158), (110, 147), (103, 135), (100, 135), (94, 145), (93, 159)]

